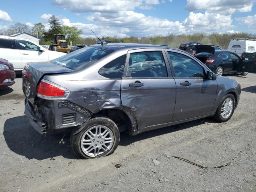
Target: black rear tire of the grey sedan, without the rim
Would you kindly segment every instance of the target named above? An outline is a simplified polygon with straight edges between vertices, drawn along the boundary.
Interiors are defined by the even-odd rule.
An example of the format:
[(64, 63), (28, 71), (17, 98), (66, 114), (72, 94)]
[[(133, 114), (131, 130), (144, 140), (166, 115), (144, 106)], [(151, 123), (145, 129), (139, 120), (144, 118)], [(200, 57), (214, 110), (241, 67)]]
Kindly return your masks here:
[[(102, 125), (102, 126), (108, 127), (113, 133), (114, 140), (113, 140), (113, 144), (112, 144), (112, 147), (110, 148), (110, 150), (108, 150), (105, 153), (100, 154), (96, 157), (90, 157), (82, 151), (81, 139), (82, 139), (83, 134), (88, 129), (90, 129), (93, 126), (97, 126), (97, 125)], [(102, 157), (102, 156), (107, 156), (109, 154), (112, 154), (116, 150), (116, 148), (118, 147), (118, 144), (119, 144), (119, 141), (120, 141), (120, 133), (119, 133), (118, 127), (116, 126), (114, 121), (112, 121), (109, 118), (106, 118), (106, 117), (92, 118), (86, 123), (86, 125), (84, 126), (84, 128), (80, 132), (76, 133), (78, 131), (78, 129), (79, 128), (74, 128), (72, 130), (71, 137), (70, 137), (71, 147), (72, 147), (74, 153), (76, 154), (76, 156), (78, 156), (78, 158), (94, 159), (94, 158), (99, 158), (99, 157)]]

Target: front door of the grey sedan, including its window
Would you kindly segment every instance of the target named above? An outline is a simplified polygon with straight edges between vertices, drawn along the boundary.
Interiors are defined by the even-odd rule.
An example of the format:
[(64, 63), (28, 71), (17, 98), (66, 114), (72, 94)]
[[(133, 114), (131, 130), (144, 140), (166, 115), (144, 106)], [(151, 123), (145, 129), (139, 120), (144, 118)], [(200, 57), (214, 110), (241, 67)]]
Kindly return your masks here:
[(168, 51), (176, 82), (176, 105), (172, 122), (211, 114), (217, 82), (205, 78), (204, 67), (192, 56)]

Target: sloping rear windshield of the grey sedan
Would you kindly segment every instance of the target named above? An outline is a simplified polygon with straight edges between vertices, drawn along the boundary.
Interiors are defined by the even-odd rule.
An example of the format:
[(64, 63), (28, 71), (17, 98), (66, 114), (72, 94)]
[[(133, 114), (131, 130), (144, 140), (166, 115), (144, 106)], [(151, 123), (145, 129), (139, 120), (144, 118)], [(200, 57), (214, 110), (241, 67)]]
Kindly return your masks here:
[(99, 59), (114, 52), (113, 49), (97, 47), (85, 47), (52, 60), (52, 63), (72, 69), (74, 71), (86, 68)]

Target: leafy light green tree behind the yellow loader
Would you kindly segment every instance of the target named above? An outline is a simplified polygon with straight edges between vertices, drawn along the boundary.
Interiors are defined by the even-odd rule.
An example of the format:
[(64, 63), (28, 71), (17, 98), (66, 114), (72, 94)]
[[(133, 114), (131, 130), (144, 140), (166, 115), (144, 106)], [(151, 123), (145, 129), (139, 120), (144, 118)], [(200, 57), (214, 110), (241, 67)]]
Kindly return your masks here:
[(80, 35), (82, 34), (82, 30), (76, 27), (62, 26), (62, 34), (65, 35), (65, 39), (68, 44), (72, 41), (72, 44), (77, 44), (80, 42)]

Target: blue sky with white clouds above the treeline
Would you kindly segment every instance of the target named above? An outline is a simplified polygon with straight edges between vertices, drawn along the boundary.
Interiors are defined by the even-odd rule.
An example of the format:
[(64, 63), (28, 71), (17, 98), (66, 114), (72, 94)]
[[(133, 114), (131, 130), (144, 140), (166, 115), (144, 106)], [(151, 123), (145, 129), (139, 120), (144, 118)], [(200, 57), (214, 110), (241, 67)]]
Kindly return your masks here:
[(82, 37), (166, 36), (256, 31), (256, 0), (0, 0), (0, 29), (54, 15)]

